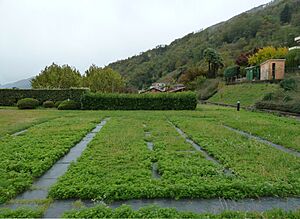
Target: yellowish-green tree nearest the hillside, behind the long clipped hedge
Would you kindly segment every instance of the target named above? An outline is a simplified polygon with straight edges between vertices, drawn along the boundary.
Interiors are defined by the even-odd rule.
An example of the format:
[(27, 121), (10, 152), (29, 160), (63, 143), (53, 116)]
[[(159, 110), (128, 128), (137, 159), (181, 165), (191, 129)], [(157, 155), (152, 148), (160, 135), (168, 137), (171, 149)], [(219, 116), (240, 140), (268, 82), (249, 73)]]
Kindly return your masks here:
[(83, 78), (83, 84), (93, 92), (115, 93), (124, 88), (122, 76), (111, 68), (92, 65)]

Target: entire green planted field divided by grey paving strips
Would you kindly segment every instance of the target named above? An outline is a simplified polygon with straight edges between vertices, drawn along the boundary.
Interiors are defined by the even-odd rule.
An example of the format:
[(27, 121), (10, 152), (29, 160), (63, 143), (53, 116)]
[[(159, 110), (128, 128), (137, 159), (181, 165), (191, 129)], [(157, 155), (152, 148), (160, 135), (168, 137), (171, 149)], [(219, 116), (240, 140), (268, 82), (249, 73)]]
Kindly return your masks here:
[[(51, 198), (114, 201), (300, 196), (299, 157), (224, 127), (300, 151), (300, 122), (293, 118), (205, 105), (196, 111), (5, 108), (0, 114), (5, 117), (5, 125), (1, 124), (5, 131), (0, 139), (2, 203), (28, 189), (35, 178), (104, 118), (110, 119), (79, 160), (51, 188)], [(12, 114), (17, 115), (17, 121)], [(19, 122), (27, 118), (28, 122)], [(217, 163), (186, 142), (174, 126)], [(20, 127), (28, 131), (19, 136), (8, 135)], [(147, 142), (154, 144), (153, 150)], [(224, 172), (225, 169), (231, 173)], [(30, 211), (20, 213), (34, 215)], [(65, 216), (68, 215), (77, 217), (81, 213)]]

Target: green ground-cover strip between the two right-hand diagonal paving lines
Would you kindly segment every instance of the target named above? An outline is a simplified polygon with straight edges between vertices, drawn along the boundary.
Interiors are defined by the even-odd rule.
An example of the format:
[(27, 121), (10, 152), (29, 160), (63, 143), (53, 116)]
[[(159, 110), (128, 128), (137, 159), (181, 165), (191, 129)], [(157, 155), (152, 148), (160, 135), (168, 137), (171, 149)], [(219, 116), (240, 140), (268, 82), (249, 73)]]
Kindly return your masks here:
[(232, 169), (235, 197), (300, 194), (300, 160), (224, 128), (211, 118), (170, 118), (210, 154)]

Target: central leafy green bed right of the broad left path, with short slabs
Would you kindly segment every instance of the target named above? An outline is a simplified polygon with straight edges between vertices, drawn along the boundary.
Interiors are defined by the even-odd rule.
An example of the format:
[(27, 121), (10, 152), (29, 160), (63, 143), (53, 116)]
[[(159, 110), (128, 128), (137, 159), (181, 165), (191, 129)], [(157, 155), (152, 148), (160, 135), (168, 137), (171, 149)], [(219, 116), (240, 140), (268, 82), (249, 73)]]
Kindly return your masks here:
[[(154, 151), (145, 140), (154, 142)], [(159, 179), (152, 177), (154, 162)], [(165, 117), (113, 117), (49, 194), (96, 200), (215, 197), (227, 180), (222, 169), (187, 144)]]

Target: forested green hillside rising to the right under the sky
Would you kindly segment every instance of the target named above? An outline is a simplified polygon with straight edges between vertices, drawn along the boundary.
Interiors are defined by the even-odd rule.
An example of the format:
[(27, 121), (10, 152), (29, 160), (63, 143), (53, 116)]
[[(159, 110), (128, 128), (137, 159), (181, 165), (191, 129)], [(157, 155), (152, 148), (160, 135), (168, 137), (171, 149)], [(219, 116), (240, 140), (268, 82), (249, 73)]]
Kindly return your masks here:
[[(212, 12), (213, 13), (213, 12)], [(232, 19), (190, 33), (167, 46), (157, 46), (140, 55), (109, 64), (129, 85), (142, 88), (155, 81), (177, 80), (185, 72), (207, 71), (204, 51), (217, 50), (224, 67), (242, 53), (263, 46), (294, 46), (300, 35), (300, 0), (275, 0)], [(223, 73), (223, 69), (219, 74)]]

